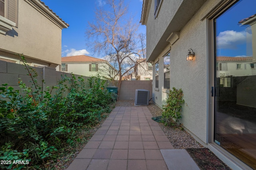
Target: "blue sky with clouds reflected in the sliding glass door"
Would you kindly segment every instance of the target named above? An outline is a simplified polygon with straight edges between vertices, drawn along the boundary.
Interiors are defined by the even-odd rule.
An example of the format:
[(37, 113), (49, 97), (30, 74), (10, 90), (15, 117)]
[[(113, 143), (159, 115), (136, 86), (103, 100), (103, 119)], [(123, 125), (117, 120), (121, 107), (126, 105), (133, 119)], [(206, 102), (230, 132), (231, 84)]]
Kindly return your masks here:
[(256, 0), (240, 0), (216, 19), (217, 56), (252, 57), (252, 29), (238, 24), (256, 14)]

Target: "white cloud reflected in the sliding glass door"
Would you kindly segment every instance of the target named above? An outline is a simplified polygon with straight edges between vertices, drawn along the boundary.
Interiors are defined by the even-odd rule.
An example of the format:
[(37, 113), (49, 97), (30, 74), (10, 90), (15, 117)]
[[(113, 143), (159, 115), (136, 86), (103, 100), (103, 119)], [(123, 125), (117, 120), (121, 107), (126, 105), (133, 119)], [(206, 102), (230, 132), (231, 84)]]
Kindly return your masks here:
[(246, 31), (227, 30), (220, 32), (217, 37), (219, 49), (236, 49), (238, 45), (252, 42), (252, 34)]

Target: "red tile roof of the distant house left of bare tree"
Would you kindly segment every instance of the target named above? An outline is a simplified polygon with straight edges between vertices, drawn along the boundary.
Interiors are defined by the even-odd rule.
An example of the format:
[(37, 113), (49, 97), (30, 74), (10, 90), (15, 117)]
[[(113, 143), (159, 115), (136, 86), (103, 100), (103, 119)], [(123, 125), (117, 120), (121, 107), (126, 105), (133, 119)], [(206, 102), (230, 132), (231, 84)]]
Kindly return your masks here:
[(70, 56), (70, 57), (62, 57), (61, 62), (102, 62), (106, 60), (86, 56), (86, 55), (77, 55), (77, 56)]

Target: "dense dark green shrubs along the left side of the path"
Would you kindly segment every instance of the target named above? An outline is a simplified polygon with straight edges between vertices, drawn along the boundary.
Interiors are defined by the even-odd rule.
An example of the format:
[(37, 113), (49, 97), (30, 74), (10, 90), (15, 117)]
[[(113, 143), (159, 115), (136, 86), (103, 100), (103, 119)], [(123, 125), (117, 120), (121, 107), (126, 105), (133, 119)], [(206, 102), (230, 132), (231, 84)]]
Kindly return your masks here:
[(100, 76), (91, 77), (88, 86), (82, 77), (62, 76), (57, 86), (44, 91), (38, 85), (37, 72), (26, 64), (23, 55), (20, 58), (33, 86), (26, 86), (21, 79), (20, 90), (8, 84), (0, 86), (0, 160), (28, 160), (29, 164), (0, 168), (36, 168), (36, 164), (56, 158), (62, 143), (73, 145), (76, 130), (98, 123), (115, 101)]

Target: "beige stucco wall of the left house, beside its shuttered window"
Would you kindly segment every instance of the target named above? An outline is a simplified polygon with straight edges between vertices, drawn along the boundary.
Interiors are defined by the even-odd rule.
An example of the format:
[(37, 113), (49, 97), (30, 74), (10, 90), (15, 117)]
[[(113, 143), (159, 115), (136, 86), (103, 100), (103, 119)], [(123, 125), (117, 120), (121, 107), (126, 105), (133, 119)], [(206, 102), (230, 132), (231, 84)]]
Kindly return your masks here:
[[(0, 35), (0, 51), (23, 53), (34, 63), (61, 63), (62, 29), (24, 0), (18, 1), (18, 27)], [(9, 57), (18, 58), (9, 54)]]

